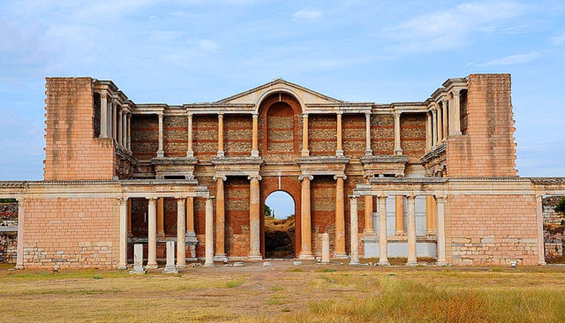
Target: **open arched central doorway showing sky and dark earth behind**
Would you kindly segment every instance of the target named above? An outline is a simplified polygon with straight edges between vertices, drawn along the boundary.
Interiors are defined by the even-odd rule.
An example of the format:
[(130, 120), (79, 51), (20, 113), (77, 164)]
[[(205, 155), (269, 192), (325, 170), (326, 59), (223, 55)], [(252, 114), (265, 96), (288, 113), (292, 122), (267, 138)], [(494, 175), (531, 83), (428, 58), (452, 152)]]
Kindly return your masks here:
[(275, 190), (265, 200), (265, 257), (295, 257), (295, 200)]

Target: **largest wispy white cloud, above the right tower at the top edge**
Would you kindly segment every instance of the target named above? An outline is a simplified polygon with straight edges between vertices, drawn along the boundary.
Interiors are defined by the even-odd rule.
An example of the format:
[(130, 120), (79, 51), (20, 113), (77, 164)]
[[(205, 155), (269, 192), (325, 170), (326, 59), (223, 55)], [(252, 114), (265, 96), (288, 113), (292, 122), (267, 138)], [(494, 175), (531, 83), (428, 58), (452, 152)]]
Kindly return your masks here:
[(511, 1), (488, 1), (459, 4), (434, 11), (385, 30), (395, 39), (398, 51), (439, 51), (471, 42), (476, 33), (506, 32), (511, 18), (521, 16), (526, 6)]

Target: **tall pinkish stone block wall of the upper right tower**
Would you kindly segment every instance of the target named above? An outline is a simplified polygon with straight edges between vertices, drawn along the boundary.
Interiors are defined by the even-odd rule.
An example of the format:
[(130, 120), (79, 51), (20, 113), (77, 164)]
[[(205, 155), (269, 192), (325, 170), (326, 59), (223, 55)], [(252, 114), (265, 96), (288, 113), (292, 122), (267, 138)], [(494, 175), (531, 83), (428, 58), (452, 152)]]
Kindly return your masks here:
[(463, 111), (466, 135), (448, 138), (448, 176), (516, 176), (510, 75), (469, 75)]

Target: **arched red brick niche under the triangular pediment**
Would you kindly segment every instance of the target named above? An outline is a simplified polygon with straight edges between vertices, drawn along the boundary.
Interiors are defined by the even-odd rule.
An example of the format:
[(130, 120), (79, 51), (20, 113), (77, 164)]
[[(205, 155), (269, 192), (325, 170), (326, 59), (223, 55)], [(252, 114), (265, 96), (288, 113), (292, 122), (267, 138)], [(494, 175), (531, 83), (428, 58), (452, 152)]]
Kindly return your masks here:
[[(263, 99), (259, 105), (258, 115), (258, 148), (261, 154), (283, 155), (285, 157), (298, 156), (300, 152), (299, 130), (302, 122), (302, 104), (298, 99), (285, 92), (273, 93)], [(278, 120), (275, 120), (275, 118)], [(281, 130), (269, 135), (269, 127)], [(278, 135), (282, 140), (277, 140)]]

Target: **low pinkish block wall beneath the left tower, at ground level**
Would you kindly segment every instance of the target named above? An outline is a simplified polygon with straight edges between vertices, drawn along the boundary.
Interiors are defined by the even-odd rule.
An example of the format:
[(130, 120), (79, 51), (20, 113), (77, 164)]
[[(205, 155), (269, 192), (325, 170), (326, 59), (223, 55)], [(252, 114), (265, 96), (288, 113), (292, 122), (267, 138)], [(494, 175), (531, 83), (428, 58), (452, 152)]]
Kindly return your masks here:
[(118, 203), (112, 198), (25, 200), (24, 266), (110, 268), (119, 248)]

